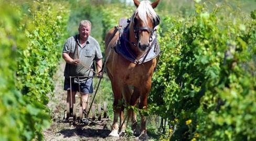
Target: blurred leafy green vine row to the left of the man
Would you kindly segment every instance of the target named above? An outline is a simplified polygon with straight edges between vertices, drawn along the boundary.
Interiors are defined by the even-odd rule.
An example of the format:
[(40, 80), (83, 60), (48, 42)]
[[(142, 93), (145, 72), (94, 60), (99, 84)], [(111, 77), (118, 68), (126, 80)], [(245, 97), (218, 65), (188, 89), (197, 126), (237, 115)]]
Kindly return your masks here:
[(42, 140), (68, 10), (47, 1), (0, 7), (0, 140)]

